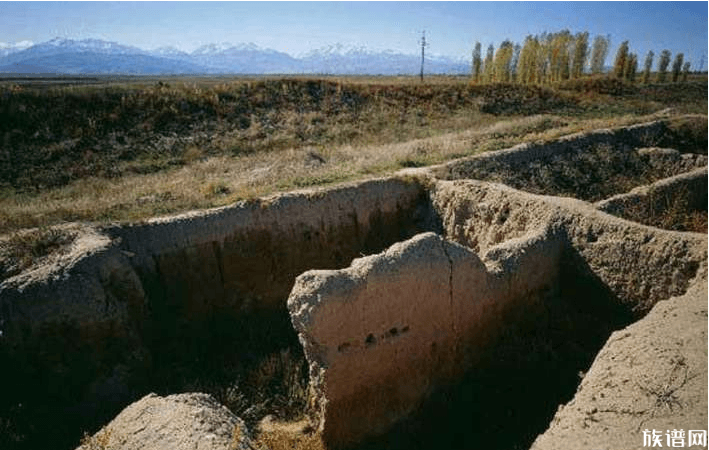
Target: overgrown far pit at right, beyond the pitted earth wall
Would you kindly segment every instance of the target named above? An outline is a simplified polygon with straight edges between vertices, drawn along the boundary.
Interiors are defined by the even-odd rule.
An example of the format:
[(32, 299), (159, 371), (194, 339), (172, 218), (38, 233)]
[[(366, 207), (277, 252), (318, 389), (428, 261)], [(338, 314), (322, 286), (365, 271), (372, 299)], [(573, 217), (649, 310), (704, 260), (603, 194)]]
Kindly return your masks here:
[(536, 194), (595, 202), (707, 165), (699, 154), (646, 148), (662, 122), (568, 136), (465, 158), (435, 169), (444, 179), (503, 183)]

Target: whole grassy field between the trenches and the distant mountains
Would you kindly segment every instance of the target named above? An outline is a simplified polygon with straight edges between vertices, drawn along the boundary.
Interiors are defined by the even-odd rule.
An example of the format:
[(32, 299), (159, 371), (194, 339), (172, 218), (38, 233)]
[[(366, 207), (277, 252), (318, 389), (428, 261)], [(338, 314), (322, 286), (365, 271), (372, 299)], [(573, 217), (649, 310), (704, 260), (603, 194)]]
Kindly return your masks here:
[(706, 112), (706, 76), (552, 87), (466, 77), (0, 79), (0, 234), (137, 221)]

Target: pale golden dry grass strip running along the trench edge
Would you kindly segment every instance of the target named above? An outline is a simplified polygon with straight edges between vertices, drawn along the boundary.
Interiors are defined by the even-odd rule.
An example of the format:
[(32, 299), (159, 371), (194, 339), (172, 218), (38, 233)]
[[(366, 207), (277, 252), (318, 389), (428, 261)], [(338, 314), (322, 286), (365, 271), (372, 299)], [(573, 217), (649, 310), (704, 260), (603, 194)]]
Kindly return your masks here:
[[(194, 208), (216, 207), (278, 191), (380, 176), (529, 140), (647, 120), (567, 121), (535, 115), (483, 122), (466, 131), (383, 145), (311, 146), (240, 156), (194, 158), (157, 173), (117, 179), (91, 177), (36, 194), (0, 197), (0, 233), (63, 221), (135, 221)], [(194, 154), (197, 150), (192, 150)], [(317, 155), (317, 158), (313, 157)]]

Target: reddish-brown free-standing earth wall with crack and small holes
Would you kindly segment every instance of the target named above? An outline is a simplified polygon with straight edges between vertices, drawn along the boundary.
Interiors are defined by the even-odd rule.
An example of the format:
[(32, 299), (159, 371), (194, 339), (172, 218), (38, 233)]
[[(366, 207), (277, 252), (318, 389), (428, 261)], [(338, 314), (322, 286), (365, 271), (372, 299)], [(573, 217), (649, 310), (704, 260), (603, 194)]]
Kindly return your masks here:
[(288, 307), (328, 445), (383, 433), (459, 380), (506, 311), (557, 283), (561, 250), (542, 230), (483, 262), (427, 233), (347, 269), (299, 276)]

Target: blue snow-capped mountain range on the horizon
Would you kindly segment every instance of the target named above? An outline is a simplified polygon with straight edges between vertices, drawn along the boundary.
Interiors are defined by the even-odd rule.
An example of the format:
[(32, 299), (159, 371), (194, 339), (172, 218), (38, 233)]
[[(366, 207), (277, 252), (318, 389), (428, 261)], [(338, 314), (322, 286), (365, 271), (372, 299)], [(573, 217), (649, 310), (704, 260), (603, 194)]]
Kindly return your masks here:
[[(55, 38), (40, 44), (0, 43), (0, 74), (198, 75), (198, 74), (418, 74), (418, 55), (334, 44), (298, 57), (253, 43), (208, 44), (193, 52), (174, 47), (142, 50), (99, 39)], [(426, 57), (425, 72), (465, 74), (470, 64)]]

